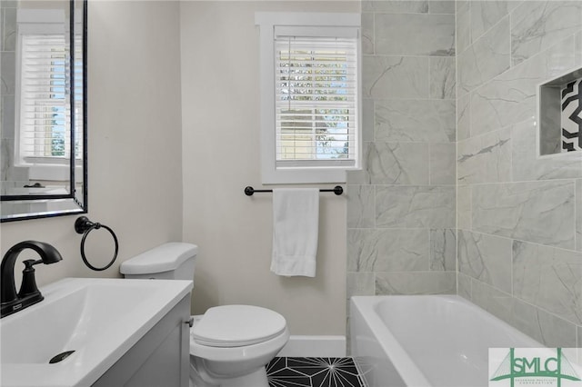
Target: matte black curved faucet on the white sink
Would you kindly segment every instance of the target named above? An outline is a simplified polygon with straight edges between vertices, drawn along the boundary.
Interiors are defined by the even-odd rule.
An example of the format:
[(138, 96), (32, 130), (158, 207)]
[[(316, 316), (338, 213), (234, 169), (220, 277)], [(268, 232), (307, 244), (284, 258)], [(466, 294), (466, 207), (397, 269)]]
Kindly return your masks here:
[[(15, 287), (15, 263), (18, 255), (25, 249), (32, 249), (38, 255), (39, 260), (25, 260), (25, 270), (22, 272), (22, 284), (20, 291), (16, 293)], [(35, 303), (40, 303), (45, 299), (36, 287), (35, 269), (33, 265), (37, 263), (57, 263), (63, 257), (58, 253), (55, 247), (48, 243), (37, 241), (25, 241), (16, 243), (5, 253), (0, 267), (2, 274), (2, 305), (0, 311), (0, 318), (9, 314), (22, 311), (26, 307)]]

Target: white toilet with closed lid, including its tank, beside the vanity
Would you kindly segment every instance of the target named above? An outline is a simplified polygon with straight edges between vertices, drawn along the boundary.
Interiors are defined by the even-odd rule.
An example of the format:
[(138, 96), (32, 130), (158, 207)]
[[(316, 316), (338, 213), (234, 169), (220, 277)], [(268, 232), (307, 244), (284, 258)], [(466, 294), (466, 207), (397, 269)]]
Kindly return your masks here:
[[(165, 243), (121, 263), (125, 278), (194, 278), (198, 247)], [(285, 318), (250, 305), (224, 305), (194, 316), (190, 329), (190, 386), (268, 387), (266, 363), (289, 339)]]

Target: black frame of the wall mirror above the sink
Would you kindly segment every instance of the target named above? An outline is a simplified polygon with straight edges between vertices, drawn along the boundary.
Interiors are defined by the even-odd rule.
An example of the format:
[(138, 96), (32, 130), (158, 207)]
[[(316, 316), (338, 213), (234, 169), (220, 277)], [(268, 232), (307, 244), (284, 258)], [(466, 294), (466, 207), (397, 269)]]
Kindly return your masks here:
[[(81, 3), (82, 9), (82, 22), (81, 31), (76, 28), (75, 21), (75, 5)], [(16, 213), (16, 214), (2, 214), (0, 216), (0, 223), (22, 221), (27, 219), (39, 219), (55, 216), (64, 216), (78, 213), (87, 213), (87, 0), (69, 0), (70, 5), (70, 53), (71, 53), (71, 63), (75, 63), (75, 35), (81, 33), (82, 35), (82, 50), (83, 50), (83, 119), (81, 120), (83, 124), (83, 193), (81, 195), (77, 194), (75, 189), (75, 147), (71, 146), (71, 160), (70, 166), (70, 186), (71, 192), (66, 194), (34, 194), (34, 195), (2, 195), (0, 196), (1, 205), (10, 205), (9, 203), (51, 203), (51, 202), (61, 202), (66, 201), (71, 203), (71, 210), (61, 210), (61, 211), (45, 211), (36, 213)], [(75, 89), (75, 66), (72, 66), (70, 84), (72, 89)], [(75, 144), (75, 93), (71, 92), (71, 124), (69, 127), (71, 135), (71, 144)], [(76, 208), (75, 208), (76, 206)]]

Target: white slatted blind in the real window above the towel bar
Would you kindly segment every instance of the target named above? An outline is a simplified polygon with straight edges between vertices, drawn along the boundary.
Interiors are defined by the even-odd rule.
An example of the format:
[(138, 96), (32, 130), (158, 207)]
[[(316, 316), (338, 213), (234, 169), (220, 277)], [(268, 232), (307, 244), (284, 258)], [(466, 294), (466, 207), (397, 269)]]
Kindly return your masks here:
[(353, 166), (356, 37), (308, 33), (275, 37), (277, 167)]

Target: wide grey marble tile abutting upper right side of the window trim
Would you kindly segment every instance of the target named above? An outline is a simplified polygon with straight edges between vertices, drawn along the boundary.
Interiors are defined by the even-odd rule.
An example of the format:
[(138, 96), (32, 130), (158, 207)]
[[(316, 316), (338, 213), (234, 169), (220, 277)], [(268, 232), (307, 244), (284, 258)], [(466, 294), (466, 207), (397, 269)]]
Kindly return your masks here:
[(364, 55), (362, 62), (366, 69), (362, 74), (365, 97), (426, 98), (429, 95), (427, 56)]

